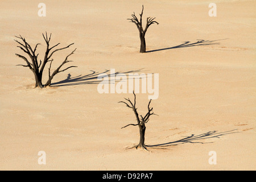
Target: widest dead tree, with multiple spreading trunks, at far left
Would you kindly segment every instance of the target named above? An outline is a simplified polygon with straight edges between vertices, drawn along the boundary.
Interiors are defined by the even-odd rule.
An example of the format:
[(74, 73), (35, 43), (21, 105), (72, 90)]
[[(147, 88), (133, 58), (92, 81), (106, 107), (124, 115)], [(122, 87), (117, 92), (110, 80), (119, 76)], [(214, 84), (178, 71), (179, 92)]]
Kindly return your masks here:
[[(17, 46), (17, 47), (22, 49), (22, 51), (25, 52), (28, 55), (28, 57), (30, 57), (30, 61), (29, 61), (25, 56), (22, 56), (22, 55), (19, 55), (18, 53), (16, 53), (15, 54), (16, 56), (22, 58), (26, 62), (26, 64), (19, 64), (19, 66), (28, 67), (34, 73), (34, 75), (35, 75), (35, 87), (44, 88), (46, 86), (50, 86), (52, 78), (55, 75), (57, 75), (57, 73), (64, 72), (64, 71), (66, 71), (69, 68), (76, 67), (76, 66), (71, 66), (71, 67), (68, 67), (68, 68), (60, 70), (61, 67), (63, 67), (64, 64), (71, 62), (70, 60), (68, 60), (68, 57), (71, 56), (76, 51), (76, 49), (75, 49), (74, 51), (72, 51), (65, 58), (63, 63), (61, 63), (60, 66), (57, 67), (57, 69), (55, 69), (55, 71), (53, 71), (51, 73), (51, 65), (52, 65), (52, 62), (53, 62), (53, 59), (52, 59), (53, 53), (55, 53), (57, 51), (61, 51), (63, 49), (67, 49), (67, 48), (69, 48), (70, 46), (72, 46), (74, 44), (74, 43), (72, 43), (72, 44), (69, 44), (67, 47), (63, 47), (63, 48), (59, 48), (59, 49), (53, 50), (53, 48), (59, 46), (60, 43), (57, 43), (53, 47), (49, 47), (49, 42), (51, 40), (51, 35), (52, 34), (50, 34), (49, 37), (48, 37), (47, 32), (46, 32), (45, 35), (43, 34), (43, 38), (44, 38), (44, 40), (46, 42), (46, 53), (44, 55), (43, 61), (42, 60), (40, 60), (40, 61), (38, 60), (39, 53), (36, 53), (36, 48), (38, 47), (38, 45), (40, 45), (39, 43), (36, 44), (34, 49), (32, 49), (30, 44), (28, 44), (26, 42), (25, 38), (23, 38), (21, 35), (15, 36), (16, 38), (20, 39), (20, 41), (15, 40), (15, 42), (19, 44), (19, 46)], [(46, 64), (48, 62), (50, 62), (49, 68), (48, 68), (48, 81), (46, 82), (46, 84), (43, 85), (42, 84), (43, 72), (44, 72), (44, 68), (46, 67)]]

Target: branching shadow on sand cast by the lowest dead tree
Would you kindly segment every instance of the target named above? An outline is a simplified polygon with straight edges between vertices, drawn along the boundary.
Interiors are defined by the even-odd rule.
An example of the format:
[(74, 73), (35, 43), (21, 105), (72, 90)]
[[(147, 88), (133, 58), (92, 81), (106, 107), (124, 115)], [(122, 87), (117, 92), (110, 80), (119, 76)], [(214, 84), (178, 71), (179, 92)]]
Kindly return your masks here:
[(201, 144), (213, 143), (213, 142), (199, 142), (199, 140), (209, 139), (209, 138), (220, 138), (221, 136), (224, 136), (224, 135), (239, 133), (236, 130), (237, 129), (230, 130), (230, 131), (224, 131), (224, 132), (220, 132), (220, 133), (217, 133), (217, 131), (209, 131), (207, 133), (203, 133), (203, 134), (200, 134), (200, 135), (192, 134), (189, 137), (185, 137), (183, 139), (179, 139), (179, 140), (176, 140), (174, 142), (146, 145), (146, 147), (158, 148), (158, 149), (167, 149), (167, 148), (161, 148), (161, 147), (176, 146), (178, 144), (184, 144), (184, 143), (201, 143)]

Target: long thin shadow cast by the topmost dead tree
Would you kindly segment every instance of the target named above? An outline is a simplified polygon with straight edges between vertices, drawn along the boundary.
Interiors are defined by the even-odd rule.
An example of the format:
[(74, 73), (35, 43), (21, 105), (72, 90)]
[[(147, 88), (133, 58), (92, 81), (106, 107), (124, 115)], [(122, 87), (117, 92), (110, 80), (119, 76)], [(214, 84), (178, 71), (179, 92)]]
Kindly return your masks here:
[(209, 46), (209, 45), (218, 45), (220, 44), (219, 40), (226, 40), (226, 39), (219, 39), (219, 40), (201, 40), (201, 39), (196, 39), (198, 40), (197, 42), (191, 43), (189, 41), (184, 42), (183, 44), (180, 44), (178, 46), (174, 47), (168, 47), (168, 48), (162, 48), (162, 49), (155, 49), (151, 51), (146, 51), (146, 52), (156, 52), (156, 51), (164, 51), (168, 49), (176, 49), (176, 48), (184, 48), (184, 47), (193, 47), (193, 46)]

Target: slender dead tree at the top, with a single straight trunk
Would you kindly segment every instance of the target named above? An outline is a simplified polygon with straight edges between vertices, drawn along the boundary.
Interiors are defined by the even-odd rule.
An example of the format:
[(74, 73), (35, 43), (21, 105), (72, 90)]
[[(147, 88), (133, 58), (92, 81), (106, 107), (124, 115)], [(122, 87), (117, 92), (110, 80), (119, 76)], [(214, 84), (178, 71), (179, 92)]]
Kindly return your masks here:
[(142, 12), (141, 12), (141, 14), (139, 14), (139, 16), (141, 16), (140, 19), (137, 18), (137, 16), (135, 15), (135, 13), (133, 13), (133, 14), (131, 15), (133, 18), (128, 19), (128, 20), (130, 20), (130, 22), (135, 23), (136, 26), (137, 26), (137, 28), (138, 28), (138, 30), (139, 30), (139, 38), (141, 39), (141, 49), (140, 49), (139, 52), (141, 52), (141, 53), (146, 52), (145, 35), (146, 35), (146, 32), (147, 32), (148, 27), (151, 26), (151, 24), (154, 24), (154, 23), (159, 24), (158, 22), (156, 22), (156, 21), (154, 20), (155, 18), (148, 17), (148, 18), (147, 18), (146, 27), (145, 27), (145, 29), (143, 30), (143, 27), (142, 27), (143, 9), (144, 9), (144, 7), (143, 7), (143, 5), (142, 5)]

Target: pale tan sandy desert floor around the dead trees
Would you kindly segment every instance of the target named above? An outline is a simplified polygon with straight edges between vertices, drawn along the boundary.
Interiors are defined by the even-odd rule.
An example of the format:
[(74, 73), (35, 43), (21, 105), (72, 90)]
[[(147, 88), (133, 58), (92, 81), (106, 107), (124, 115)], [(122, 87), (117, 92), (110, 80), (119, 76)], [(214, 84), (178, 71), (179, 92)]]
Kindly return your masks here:
[[(2, 0), (0, 169), (255, 170), (256, 2), (216, 0), (217, 17), (210, 17), (211, 2), (46, 0), (46, 17), (39, 17), (39, 1)], [(127, 20), (142, 4), (144, 22), (154, 16), (160, 23), (148, 28), (147, 53), (139, 53), (138, 30)], [(15, 53), (23, 52), (14, 36), (41, 43), (40, 57), (45, 31), (52, 46), (75, 43), (56, 53), (52, 67), (77, 48), (71, 65), (78, 68), (38, 89), (32, 72), (15, 66), (23, 63)], [(98, 93), (97, 75), (109, 69), (159, 73), (152, 101), (159, 116), (146, 125), (151, 152), (126, 150), (139, 131), (121, 129), (135, 117), (118, 102), (133, 94)], [(137, 94), (139, 113), (147, 112), (147, 96)], [(39, 151), (46, 165), (38, 164)], [(210, 151), (217, 164), (209, 164)]]

